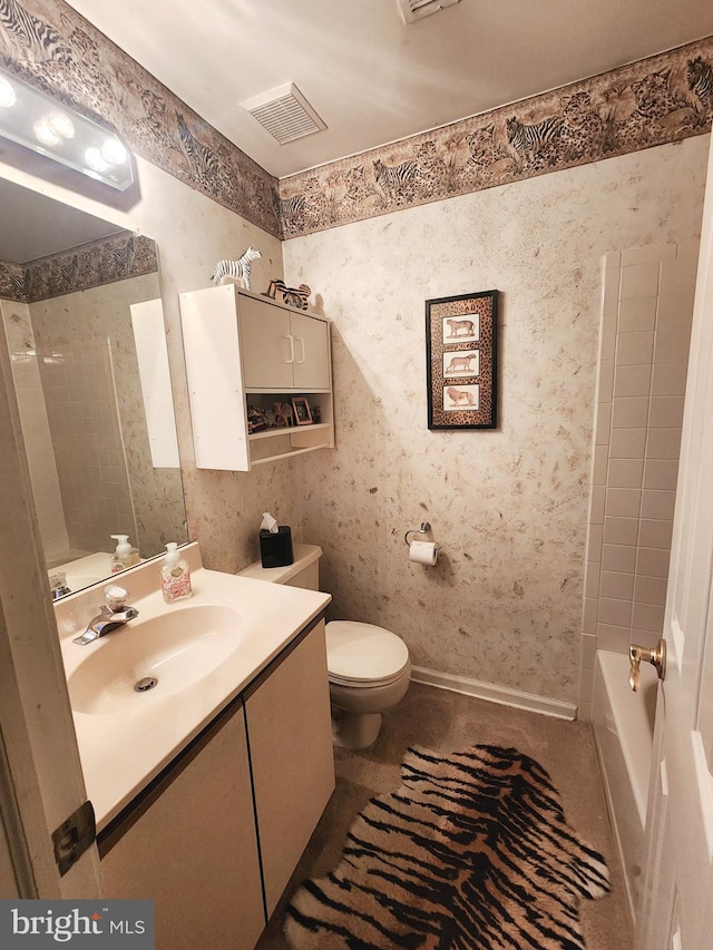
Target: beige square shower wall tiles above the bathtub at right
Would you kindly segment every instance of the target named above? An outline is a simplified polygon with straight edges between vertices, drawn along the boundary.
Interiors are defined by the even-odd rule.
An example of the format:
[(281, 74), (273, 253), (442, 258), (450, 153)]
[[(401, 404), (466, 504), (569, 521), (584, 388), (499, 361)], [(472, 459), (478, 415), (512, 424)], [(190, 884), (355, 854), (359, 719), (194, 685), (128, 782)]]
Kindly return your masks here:
[(687, 241), (604, 261), (582, 718), (595, 650), (651, 647), (663, 630), (697, 254)]

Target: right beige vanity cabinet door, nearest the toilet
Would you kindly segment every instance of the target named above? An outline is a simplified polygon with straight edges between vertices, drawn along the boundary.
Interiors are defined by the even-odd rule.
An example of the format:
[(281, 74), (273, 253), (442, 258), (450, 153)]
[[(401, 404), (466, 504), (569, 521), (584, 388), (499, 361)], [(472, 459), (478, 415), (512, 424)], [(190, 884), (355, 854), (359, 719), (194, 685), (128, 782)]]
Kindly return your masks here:
[(267, 917), (334, 791), (324, 621), (245, 698)]

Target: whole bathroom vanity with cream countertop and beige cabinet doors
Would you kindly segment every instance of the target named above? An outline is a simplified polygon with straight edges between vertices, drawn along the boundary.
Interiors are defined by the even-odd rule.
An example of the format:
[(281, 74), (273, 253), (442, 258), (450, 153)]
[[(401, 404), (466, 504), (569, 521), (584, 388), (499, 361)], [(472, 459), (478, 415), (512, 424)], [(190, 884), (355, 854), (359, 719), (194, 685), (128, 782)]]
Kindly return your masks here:
[[(140, 592), (140, 578), (157, 570), (149, 562), (123, 579)], [(71, 601), (92, 592), (96, 600), (100, 588), (66, 598), (62, 656), (105, 895), (156, 901), (157, 950), (251, 950), (334, 787), (322, 618), (330, 598), (274, 585), (266, 592), (262, 581), (203, 568), (193, 586), (179, 605), (154, 591), (131, 598), (139, 618), (88, 646), (62, 630), (86, 613), (77, 606), (70, 616)], [(204, 634), (215, 628), (197, 642), (184, 633), (195, 623), (185, 619), (191, 608)], [(188, 644), (188, 667), (157, 646), (167, 615), (175, 653)], [(233, 621), (231, 649), (218, 628)], [(146, 672), (128, 639), (141, 624), (158, 678), (144, 695), (128, 682)], [(198, 656), (206, 650), (209, 662)], [(81, 676), (89, 663), (96, 692), (94, 677)]]

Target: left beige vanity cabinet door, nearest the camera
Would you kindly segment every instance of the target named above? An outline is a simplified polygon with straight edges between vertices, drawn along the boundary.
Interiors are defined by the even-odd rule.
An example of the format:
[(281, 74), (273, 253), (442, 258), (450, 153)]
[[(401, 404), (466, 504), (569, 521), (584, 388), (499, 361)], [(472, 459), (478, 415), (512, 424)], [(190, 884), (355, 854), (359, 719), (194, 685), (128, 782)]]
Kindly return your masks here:
[(244, 715), (221, 717), (106, 853), (100, 835), (105, 897), (156, 901), (156, 950), (253, 950), (264, 929)]

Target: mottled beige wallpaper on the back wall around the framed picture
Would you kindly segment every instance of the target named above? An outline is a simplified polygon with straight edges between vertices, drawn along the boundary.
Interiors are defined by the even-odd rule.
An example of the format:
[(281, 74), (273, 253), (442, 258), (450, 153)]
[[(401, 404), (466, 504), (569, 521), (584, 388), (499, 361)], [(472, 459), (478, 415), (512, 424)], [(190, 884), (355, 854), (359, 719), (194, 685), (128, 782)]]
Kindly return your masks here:
[[(338, 449), (300, 462), (334, 616), (431, 670), (576, 702), (600, 261), (699, 233), (709, 136), (295, 238), (334, 321)], [(501, 292), (498, 431), (427, 429), (424, 301)], [(443, 555), (409, 561), (428, 519)]]

